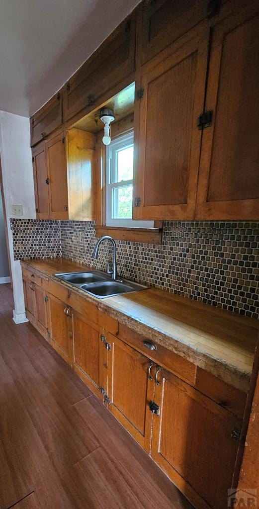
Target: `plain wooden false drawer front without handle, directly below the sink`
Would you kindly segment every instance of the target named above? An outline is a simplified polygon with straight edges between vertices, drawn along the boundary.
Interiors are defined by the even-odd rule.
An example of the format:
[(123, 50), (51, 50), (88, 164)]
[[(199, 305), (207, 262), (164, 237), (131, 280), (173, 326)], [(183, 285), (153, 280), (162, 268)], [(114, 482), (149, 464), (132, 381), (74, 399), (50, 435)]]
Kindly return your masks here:
[(46, 290), (57, 299), (62, 300), (93, 323), (98, 321), (98, 309), (95, 304), (88, 302), (82, 295), (71, 292), (65, 286), (54, 281), (48, 281)]

